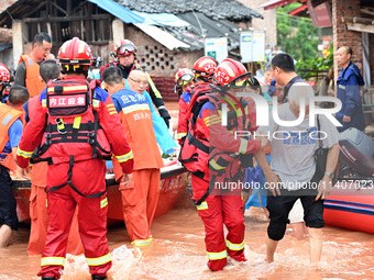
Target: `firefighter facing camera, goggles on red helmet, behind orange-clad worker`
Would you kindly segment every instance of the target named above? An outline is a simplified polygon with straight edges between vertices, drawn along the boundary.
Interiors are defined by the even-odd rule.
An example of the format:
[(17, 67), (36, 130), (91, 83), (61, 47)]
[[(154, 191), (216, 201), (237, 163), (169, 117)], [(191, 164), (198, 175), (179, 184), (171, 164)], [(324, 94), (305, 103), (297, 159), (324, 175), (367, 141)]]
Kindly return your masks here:
[[(122, 77), (124, 79), (128, 79), (130, 72), (133, 69), (140, 68), (140, 61), (136, 58), (138, 47), (134, 43), (132, 43), (130, 40), (122, 38), (114, 45), (114, 52), (111, 53), (111, 56), (114, 57), (113, 63), (109, 63), (106, 66), (102, 66), (100, 68), (100, 76), (101, 80), (103, 80), (102, 72), (106, 68), (116, 66), (118, 67), (121, 72)], [(153, 104), (156, 107), (161, 117), (164, 119), (166, 126), (169, 127), (170, 122), (170, 115), (167, 112), (163, 97), (161, 96), (158, 89), (154, 85), (151, 76), (146, 72), (148, 87), (145, 89), (153, 101)]]

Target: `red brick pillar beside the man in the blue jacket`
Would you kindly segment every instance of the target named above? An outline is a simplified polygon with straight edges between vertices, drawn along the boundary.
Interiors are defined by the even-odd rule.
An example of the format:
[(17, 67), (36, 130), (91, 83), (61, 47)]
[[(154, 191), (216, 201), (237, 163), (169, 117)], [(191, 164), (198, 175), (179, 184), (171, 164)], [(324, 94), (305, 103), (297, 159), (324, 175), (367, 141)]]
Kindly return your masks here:
[[(332, 25), (333, 25), (333, 51), (349, 45), (352, 47), (352, 61), (362, 70), (362, 33), (349, 31), (342, 18), (361, 16), (360, 0), (333, 0)], [(339, 69), (340, 70), (340, 69)], [(338, 65), (334, 64), (336, 77), (339, 76)]]

